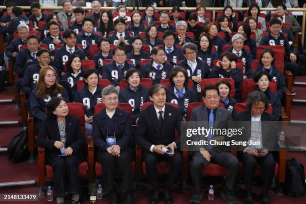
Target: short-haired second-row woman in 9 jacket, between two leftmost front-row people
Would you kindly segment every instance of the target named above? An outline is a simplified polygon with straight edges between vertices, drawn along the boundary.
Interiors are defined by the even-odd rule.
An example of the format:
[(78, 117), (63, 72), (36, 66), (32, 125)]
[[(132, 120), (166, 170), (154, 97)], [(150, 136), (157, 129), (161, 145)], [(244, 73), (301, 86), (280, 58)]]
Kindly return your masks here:
[(85, 87), (77, 90), (74, 96), (74, 102), (83, 103), (85, 108), (85, 133), (86, 136), (92, 136), (92, 116), (94, 115), (94, 107), (96, 103), (102, 102), (101, 90), (98, 85), (99, 73), (95, 68), (84, 71)]

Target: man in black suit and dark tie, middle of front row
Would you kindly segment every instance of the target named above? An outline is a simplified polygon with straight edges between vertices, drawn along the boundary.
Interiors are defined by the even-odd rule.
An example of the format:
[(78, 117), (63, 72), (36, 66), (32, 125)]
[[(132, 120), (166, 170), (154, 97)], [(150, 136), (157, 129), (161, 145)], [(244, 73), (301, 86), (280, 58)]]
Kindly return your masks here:
[[(151, 179), (153, 193), (150, 203), (157, 203), (159, 191), (157, 183), (156, 163), (158, 161), (170, 162), (167, 177), (167, 186), (164, 191), (166, 203), (172, 203), (170, 189), (180, 174), (182, 159), (178, 150), (180, 139), (175, 138), (175, 129), (180, 134), (180, 121), (182, 116), (178, 108), (165, 104), (166, 87), (155, 84), (149, 89), (149, 97), (153, 102), (140, 112), (138, 126), (135, 131), (135, 142), (142, 148), (143, 160), (147, 176)], [(162, 148), (170, 149), (173, 154), (166, 154)]]

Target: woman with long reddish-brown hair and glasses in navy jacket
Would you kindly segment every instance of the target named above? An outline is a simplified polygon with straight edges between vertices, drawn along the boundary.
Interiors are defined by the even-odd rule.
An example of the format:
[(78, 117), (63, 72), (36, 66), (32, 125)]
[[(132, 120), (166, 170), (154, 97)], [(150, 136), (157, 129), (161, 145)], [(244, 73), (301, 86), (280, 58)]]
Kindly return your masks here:
[(34, 116), (34, 134), (37, 135), (45, 118), (45, 105), (53, 97), (63, 97), (67, 101), (67, 91), (57, 82), (56, 71), (52, 66), (43, 66), (39, 71), (36, 87), (29, 96), (30, 111)]

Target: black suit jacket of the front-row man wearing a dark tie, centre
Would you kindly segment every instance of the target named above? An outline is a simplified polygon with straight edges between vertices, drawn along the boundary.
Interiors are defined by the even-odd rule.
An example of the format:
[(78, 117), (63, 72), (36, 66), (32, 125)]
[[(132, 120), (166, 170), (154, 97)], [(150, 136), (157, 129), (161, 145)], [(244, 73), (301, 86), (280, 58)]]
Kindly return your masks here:
[(152, 144), (168, 145), (173, 141), (176, 143), (176, 148), (179, 148), (180, 138), (175, 138), (175, 129), (178, 135), (180, 135), (180, 121), (182, 121), (182, 116), (179, 109), (165, 104), (160, 133), (157, 114), (152, 104), (140, 111), (135, 131), (135, 142), (145, 151), (149, 151)]

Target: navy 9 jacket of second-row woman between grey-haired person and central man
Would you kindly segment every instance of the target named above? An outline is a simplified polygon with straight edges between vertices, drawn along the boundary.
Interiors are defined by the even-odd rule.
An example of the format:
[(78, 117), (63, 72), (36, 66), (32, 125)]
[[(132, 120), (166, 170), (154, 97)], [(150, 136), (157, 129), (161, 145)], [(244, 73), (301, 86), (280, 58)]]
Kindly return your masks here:
[(130, 89), (129, 85), (119, 92), (119, 102), (127, 102), (132, 106), (133, 123), (140, 115), (140, 107), (143, 103), (149, 102), (148, 88), (139, 85), (136, 91)]

